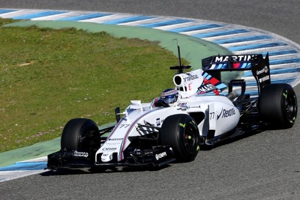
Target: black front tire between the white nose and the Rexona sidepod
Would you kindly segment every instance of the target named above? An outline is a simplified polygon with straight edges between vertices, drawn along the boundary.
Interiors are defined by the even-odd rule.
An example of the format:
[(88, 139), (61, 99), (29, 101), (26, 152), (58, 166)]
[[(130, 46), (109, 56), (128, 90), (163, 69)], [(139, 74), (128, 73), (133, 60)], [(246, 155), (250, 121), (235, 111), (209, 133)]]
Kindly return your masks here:
[(195, 120), (186, 114), (167, 117), (162, 123), (158, 142), (170, 145), (178, 161), (193, 161), (200, 150), (200, 134)]

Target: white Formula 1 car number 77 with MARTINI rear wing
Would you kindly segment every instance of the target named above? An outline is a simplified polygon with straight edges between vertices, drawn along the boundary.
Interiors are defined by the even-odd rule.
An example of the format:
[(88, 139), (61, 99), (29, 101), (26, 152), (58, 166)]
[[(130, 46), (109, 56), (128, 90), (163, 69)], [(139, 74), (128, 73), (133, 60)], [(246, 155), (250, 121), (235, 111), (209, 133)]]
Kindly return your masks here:
[[(173, 77), (175, 89), (164, 91), (151, 103), (133, 100), (122, 113), (116, 108), (116, 125), (99, 130), (89, 119), (67, 122), (61, 151), (48, 155), (47, 168), (191, 162), (200, 145), (270, 126), (293, 126), (296, 95), (290, 85), (271, 84), (268, 54), (266, 58), (261, 54), (211, 56), (202, 60), (202, 69), (187, 73), (183, 69), (190, 66), (181, 65), (180, 58), (179, 63), (170, 68), (178, 70)], [(244, 70), (251, 70), (257, 80), (257, 95), (250, 96), (245, 80), (231, 80), (224, 93), (220, 71)]]

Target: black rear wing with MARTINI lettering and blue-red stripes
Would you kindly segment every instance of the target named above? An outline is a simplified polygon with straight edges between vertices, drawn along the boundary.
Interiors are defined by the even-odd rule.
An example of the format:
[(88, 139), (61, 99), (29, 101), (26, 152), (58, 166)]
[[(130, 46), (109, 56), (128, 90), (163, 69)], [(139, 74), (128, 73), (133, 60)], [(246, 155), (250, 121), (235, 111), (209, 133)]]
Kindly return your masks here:
[(211, 76), (221, 80), (221, 71), (251, 70), (257, 81), (258, 91), (271, 83), (269, 56), (262, 54), (244, 54), (228, 56), (211, 56), (202, 59), (202, 69)]

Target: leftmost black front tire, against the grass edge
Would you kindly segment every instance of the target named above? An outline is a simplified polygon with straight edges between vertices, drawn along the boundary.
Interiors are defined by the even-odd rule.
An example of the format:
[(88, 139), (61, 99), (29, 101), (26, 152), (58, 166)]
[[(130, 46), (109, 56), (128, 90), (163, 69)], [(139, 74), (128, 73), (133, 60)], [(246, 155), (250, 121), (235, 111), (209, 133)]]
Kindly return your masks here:
[(97, 138), (100, 139), (96, 123), (85, 118), (69, 120), (61, 135), (61, 149), (89, 149), (93, 148)]

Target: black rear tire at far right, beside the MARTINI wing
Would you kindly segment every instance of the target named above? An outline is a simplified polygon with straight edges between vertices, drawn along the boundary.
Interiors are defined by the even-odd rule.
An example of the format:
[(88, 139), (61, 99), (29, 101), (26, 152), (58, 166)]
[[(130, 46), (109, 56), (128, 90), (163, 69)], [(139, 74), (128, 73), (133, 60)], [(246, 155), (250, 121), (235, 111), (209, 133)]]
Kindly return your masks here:
[(288, 84), (266, 85), (257, 107), (263, 120), (281, 129), (291, 128), (297, 118), (297, 97)]

